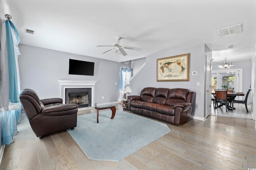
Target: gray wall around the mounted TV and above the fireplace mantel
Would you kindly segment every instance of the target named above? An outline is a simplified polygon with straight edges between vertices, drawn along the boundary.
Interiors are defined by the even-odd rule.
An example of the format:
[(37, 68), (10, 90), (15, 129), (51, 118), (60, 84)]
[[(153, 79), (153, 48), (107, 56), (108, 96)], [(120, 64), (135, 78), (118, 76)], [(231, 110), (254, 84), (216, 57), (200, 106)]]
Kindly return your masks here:
[[(117, 102), (120, 67), (130, 67), (130, 64), (24, 44), (20, 44), (19, 48), (20, 89), (31, 88), (41, 99), (60, 97), (60, 84), (57, 80), (94, 80), (98, 81), (95, 86), (95, 102)], [(69, 75), (69, 59), (94, 62), (94, 76)]]

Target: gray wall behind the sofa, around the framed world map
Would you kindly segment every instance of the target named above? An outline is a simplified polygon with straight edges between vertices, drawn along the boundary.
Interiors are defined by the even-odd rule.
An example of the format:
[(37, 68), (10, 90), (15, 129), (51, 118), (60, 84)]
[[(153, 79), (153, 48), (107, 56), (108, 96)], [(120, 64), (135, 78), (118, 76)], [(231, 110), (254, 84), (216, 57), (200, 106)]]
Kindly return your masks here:
[[(146, 57), (146, 65), (132, 78), (130, 86), (132, 92), (130, 95), (139, 95), (144, 87), (163, 87), (163, 88), (187, 88), (196, 92), (195, 106), (192, 115), (199, 119), (204, 118), (204, 83), (205, 83), (205, 63), (206, 52), (211, 56), (204, 44), (176, 49), (149, 55)], [(208, 47), (207, 47), (208, 48)], [(190, 81), (189, 82), (157, 82), (156, 81), (156, 59), (171, 57), (190, 53)], [(132, 61), (133, 65), (133, 61)], [(192, 71), (197, 71), (197, 75), (191, 75)], [(200, 86), (196, 86), (200, 82)]]

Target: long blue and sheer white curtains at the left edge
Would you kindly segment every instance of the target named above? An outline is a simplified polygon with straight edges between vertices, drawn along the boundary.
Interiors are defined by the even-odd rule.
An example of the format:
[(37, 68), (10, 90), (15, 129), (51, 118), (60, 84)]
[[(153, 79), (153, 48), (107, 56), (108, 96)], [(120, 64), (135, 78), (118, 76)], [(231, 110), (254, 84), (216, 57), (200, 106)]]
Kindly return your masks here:
[[(6, 20), (5, 22), (1, 22), (0, 39), (0, 62), (2, 62), (2, 64), (0, 63), (1, 138), (3, 145), (9, 145), (12, 143), (13, 135), (17, 133), (17, 123), (21, 116), (21, 106), (19, 103), (20, 80), (18, 70), (18, 55), (20, 55), (18, 44), (20, 43), (20, 37), (12, 21)], [(7, 63), (8, 66), (6, 66)], [(9, 81), (6, 81), (7, 78)], [(2, 83), (3, 81), (5, 81), (5, 83)]]

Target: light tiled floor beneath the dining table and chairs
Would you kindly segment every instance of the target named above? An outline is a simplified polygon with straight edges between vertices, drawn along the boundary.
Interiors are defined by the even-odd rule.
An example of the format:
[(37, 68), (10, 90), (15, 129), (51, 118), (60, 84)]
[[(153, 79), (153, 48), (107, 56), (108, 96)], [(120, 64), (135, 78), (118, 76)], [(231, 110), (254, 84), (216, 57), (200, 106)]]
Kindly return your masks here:
[(245, 108), (244, 104), (234, 104), (234, 107), (236, 109), (228, 110), (227, 112), (226, 112), (226, 107), (225, 106), (214, 110), (213, 102), (212, 102), (212, 114), (211, 115), (252, 119), (252, 113), (251, 113), (251, 106), (250, 105), (247, 106), (249, 113), (246, 112), (246, 108)]

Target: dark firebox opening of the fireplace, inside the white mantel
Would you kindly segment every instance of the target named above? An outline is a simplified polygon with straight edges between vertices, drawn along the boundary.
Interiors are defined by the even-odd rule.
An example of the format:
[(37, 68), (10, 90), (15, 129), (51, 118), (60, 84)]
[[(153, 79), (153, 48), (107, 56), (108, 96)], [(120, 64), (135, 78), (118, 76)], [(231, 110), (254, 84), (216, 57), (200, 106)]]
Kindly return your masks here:
[(92, 106), (92, 88), (66, 88), (65, 103), (80, 107)]

